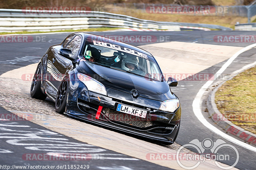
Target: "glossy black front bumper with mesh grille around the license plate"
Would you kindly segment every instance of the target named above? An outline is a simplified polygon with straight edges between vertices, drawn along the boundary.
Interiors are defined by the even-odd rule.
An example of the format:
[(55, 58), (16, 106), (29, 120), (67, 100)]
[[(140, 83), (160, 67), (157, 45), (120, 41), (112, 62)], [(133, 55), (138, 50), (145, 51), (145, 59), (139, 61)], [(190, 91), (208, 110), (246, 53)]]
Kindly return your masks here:
[[(160, 101), (143, 97), (134, 99), (131, 94), (122, 91), (118, 91), (117, 95), (115, 89), (107, 88), (107, 91), (108, 96), (103, 96), (88, 91), (84, 85), (76, 88), (71, 85), (65, 114), (142, 137), (173, 143), (180, 125), (180, 107), (174, 113), (168, 113), (158, 110)], [(147, 110), (147, 117), (140, 118), (118, 112), (118, 103)], [(100, 118), (96, 119), (99, 106), (103, 108)]]

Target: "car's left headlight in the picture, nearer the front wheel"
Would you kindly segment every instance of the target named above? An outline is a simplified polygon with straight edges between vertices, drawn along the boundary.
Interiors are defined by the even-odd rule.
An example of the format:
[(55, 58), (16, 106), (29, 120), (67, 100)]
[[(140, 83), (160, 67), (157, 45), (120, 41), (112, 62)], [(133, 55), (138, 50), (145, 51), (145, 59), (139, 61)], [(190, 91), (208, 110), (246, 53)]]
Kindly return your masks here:
[(88, 90), (107, 96), (105, 86), (99, 81), (82, 73), (77, 73), (77, 78), (84, 83)]

